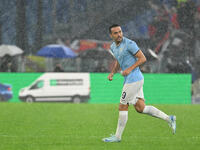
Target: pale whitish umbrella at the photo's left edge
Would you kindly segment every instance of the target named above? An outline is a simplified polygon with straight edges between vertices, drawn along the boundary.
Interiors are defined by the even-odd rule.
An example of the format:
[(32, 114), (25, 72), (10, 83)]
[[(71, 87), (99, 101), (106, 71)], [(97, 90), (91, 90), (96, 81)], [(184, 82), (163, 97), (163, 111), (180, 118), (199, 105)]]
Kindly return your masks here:
[(23, 50), (15, 45), (1, 45), (0, 46), (0, 57), (5, 55), (15, 56), (22, 54)]

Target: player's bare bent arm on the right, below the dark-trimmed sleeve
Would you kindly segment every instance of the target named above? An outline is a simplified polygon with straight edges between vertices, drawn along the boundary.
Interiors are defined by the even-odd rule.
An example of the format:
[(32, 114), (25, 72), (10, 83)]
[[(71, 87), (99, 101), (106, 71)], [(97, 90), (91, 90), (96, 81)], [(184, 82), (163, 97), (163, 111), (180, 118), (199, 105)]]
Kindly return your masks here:
[(146, 62), (146, 57), (144, 56), (141, 50), (138, 50), (138, 52), (134, 56), (137, 58), (137, 61), (131, 67), (127, 68), (122, 72), (123, 76), (129, 75), (132, 70)]

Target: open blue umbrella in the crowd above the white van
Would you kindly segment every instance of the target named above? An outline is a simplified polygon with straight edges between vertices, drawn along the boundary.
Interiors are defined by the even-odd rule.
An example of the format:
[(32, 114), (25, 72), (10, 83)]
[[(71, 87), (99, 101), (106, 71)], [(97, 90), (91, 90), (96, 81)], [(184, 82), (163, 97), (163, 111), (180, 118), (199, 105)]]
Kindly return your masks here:
[(67, 46), (64, 45), (47, 45), (41, 48), (37, 54), (42, 57), (51, 58), (74, 58), (76, 54)]

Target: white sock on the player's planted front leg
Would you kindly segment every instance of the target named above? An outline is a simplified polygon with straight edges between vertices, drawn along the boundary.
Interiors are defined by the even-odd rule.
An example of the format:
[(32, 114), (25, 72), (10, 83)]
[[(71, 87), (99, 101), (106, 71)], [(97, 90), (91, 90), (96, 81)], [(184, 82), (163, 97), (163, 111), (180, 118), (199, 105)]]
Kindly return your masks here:
[(126, 126), (127, 120), (128, 120), (128, 111), (119, 111), (117, 130), (115, 133), (115, 136), (119, 139), (121, 139), (121, 137), (122, 137), (122, 133)]

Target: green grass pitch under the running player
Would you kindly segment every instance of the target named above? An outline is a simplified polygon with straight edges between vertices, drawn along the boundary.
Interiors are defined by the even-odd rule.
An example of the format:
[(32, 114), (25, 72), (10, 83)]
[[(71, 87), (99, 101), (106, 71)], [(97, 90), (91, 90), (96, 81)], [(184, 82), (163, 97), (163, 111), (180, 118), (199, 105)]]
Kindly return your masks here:
[(177, 133), (130, 106), (120, 143), (117, 104), (0, 103), (0, 150), (199, 150), (200, 105), (154, 105), (177, 116)]

